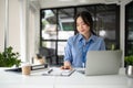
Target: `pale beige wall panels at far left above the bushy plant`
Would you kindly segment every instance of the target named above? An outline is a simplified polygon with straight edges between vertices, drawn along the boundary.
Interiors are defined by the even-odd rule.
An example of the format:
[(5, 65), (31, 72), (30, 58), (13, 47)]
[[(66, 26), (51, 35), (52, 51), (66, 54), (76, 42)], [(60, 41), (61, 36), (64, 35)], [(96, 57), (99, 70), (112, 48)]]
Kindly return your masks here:
[[(19, 24), (19, 2), (18, 0), (9, 0), (9, 32), (8, 44), (12, 46), (14, 52), (20, 52), (20, 24)], [(4, 29), (6, 29), (6, 0), (0, 0), (0, 51), (4, 48)]]

